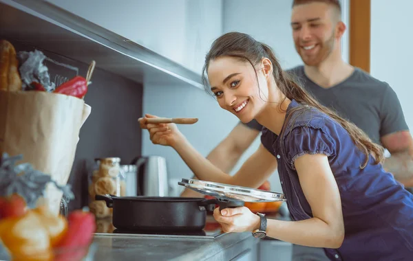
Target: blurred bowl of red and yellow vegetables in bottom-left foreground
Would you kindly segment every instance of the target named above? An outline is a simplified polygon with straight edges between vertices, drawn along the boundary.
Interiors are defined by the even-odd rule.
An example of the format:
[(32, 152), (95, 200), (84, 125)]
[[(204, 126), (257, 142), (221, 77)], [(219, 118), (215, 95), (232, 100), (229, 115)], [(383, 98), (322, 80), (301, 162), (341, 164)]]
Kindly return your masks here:
[(68, 185), (50, 175), (15, 163), (22, 156), (0, 159), (0, 258), (7, 260), (92, 260), (96, 221), (89, 209), (56, 214), (45, 198), (47, 184), (74, 198)]

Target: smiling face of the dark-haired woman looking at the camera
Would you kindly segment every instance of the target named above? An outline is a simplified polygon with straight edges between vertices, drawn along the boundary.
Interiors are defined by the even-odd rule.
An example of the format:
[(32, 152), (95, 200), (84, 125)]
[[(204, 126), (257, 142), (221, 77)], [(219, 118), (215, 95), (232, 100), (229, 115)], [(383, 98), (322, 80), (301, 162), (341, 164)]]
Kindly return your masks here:
[(211, 60), (207, 71), (218, 104), (244, 123), (253, 120), (268, 100), (268, 77), (264, 72), (264, 65), (254, 68), (248, 61), (229, 56)]

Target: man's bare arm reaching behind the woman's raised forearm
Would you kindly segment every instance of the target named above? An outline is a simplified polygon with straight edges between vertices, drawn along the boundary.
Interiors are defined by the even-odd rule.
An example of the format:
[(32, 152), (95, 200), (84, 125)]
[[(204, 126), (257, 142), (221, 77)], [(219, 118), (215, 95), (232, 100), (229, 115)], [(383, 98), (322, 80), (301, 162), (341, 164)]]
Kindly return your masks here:
[[(249, 128), (240, 122), (233, 128), (231, 133), (209, 153), (207, 159), (223, 172), (229, 173), (259, 134), (260, 131), (257, 129)], [(193, 178), (196, 179), (196, 177)], [(180, 196), (203, 197), (204, 195), (185, 188)]]

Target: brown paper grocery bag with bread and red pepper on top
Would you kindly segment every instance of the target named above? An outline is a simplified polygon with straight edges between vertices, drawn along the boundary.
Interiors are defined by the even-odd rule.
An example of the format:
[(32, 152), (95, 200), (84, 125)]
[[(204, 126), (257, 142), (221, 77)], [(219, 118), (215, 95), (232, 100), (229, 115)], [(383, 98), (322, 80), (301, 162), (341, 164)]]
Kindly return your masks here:
[[(85, 112), (84, 112), (85, 108)], [(0, 152), (23, 155), (18, 163), (65, 185), (74, 162), (78, 134), (90, 113), (82, 99), (45, 91), (0, 91)], [(47, 185), (45, 202), (59, 213), (62, 192)]]

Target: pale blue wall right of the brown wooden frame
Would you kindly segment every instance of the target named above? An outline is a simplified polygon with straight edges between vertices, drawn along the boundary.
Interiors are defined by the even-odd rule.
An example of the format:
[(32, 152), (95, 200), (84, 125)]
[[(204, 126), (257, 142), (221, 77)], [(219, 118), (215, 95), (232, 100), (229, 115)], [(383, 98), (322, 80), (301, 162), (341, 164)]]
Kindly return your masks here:
[[(397, 0), (389, 5), (385, 0), (371, 4), (370, 73), (388, 82), (396, 91), (407, 125), (413, 129), (413, 52), (402, 44), (412, 43), (410, 26), (413, 1)], [(386, 17), (386, 19), (383, 19)], [(397, 26), (394, 26), (397, 25)]]

